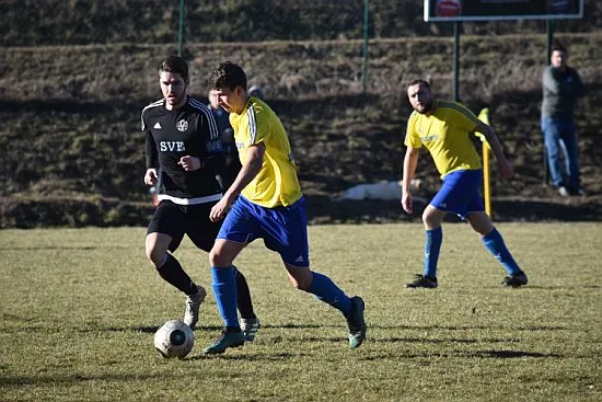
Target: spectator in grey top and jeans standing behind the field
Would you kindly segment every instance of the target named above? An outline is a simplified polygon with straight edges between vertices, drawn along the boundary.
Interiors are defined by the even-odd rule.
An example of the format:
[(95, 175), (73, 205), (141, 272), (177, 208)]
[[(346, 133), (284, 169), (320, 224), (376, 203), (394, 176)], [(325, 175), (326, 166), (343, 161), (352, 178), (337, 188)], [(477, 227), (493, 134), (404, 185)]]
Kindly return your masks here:
[[(560, 45), (552, 48), (551, 64), (543, 73), (542, 103), (542, 131), (552, 184), (564, 197), (584, 195), (572, 120), (577, 99), (583, 95), (583, 84), (577, 70), (569, 67), (567, 60), (566, 48)], [(566, 169), (563, 169), (560, 152), (564, 153)]]

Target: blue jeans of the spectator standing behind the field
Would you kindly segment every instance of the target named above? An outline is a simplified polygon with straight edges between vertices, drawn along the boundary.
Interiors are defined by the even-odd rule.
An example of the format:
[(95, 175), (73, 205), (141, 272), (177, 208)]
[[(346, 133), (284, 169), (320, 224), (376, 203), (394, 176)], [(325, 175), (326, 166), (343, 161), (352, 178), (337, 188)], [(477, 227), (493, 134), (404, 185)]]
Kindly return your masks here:
[[(542, 133), (544, 135), (545, 148), (547, 151), (547, 164), (552, 184), (556, 187), (568, 187), (578, 191), (579, 179), (579, 150), (577, 148), (577, 136), (575, 124), (568, 118), (542, 117)], [(560, 152), (564, 153), (565, 169), (563, 169)]]

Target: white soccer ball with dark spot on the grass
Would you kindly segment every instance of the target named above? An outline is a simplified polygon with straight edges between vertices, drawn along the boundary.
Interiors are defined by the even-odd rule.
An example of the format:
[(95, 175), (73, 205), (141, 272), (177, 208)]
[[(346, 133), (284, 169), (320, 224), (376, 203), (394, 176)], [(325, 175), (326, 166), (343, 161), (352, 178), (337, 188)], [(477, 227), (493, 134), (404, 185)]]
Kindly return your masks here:
[(184, 322), (170, 320), (154, 333), (154, 348), (165, 358), (184, 358), (195, 344), (193, 330)]

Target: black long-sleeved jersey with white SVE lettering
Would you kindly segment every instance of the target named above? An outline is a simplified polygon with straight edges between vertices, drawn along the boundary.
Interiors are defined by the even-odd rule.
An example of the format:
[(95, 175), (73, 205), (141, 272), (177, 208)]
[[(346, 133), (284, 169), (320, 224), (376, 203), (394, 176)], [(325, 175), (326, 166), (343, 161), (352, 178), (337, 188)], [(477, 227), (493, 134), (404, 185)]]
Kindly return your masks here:
[[(160, 172), (160, 199), (166, 195), (197, 204), (221, 195), (215, 163), (208, 161), (222, 156), (222, 143), (213, 115), (205, 104), (189, 96), (184, 106), (172, 111), (165, 107), (165, 100), (151, 103), (142, 110), (142, 131), (147, 134), (147, 169)], [(185, 171), (177, 164), (185, 156), (199, 158), (201, 168)]]

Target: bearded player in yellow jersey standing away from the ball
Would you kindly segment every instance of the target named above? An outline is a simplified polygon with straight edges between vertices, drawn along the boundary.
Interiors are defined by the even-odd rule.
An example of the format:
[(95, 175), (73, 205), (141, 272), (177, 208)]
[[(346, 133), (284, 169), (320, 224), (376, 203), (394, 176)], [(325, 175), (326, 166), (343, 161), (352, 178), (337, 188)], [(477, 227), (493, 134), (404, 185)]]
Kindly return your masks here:
[(506, 159), (494, 129), (481, 122), (464, 105), (437, 100), (425, 80), (409, 83), (407, 96), (414, 112), (407, 122), (404, 159), (402, 206), (412, 214), (410, 182), (418, 163), (418, 153), (425, 147), (435, 160), (443, 184), (422, 213), (426, 230), (425, 271), (416, 275), (406, 287), (436, 288), (437, 262), (443, 241), (441, 223), (448, 213), (454, 213), (468, 221), (482, 236), (484, 245), (508, 272), (502, 284), (518, 287), (526, 285), (528, 278), (508, 251), (501, 234), (485, 213), (479, 194), (483, 181), (481, 159), (470, 135), (483, 133), (498, 161), (499, 174), (509, 179), (512, 165)]

